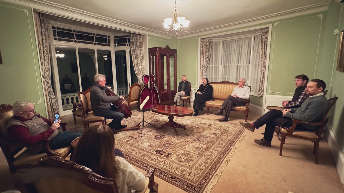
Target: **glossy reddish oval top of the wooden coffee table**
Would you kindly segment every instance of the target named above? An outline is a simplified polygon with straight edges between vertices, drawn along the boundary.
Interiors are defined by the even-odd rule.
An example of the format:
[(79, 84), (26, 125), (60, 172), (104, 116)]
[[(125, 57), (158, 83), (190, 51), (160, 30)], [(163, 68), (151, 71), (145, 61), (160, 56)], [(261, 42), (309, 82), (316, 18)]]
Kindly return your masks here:
[(193, 114), (192, 109), (188, 109), (186, 107), (181, 107), (181, 106), (171, 106), (171, 105), (158, 105), (157, 109), (151, 109), (151, 110), (161, 115), (176, 116), (176, 117), (191, 116)]

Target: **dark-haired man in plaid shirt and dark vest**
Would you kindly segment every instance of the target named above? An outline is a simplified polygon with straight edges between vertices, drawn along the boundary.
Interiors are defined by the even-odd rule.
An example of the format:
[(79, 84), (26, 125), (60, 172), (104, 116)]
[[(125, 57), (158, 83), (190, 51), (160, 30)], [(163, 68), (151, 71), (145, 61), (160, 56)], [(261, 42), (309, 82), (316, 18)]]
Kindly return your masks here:
[(295, 93), (291, 101), (282, 101), (282, 106), (288, 109), (298, 108), (301, 106), (304, 100), (306, 100), (308, 94), (304, 90), (307, 87), (308, 77), (306, 75), (295, 76)]

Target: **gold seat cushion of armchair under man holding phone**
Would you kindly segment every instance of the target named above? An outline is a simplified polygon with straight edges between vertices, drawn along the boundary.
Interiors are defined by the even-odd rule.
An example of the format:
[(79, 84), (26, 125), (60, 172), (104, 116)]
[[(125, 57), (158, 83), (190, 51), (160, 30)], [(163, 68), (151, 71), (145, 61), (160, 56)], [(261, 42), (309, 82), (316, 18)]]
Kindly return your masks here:
[[(66, 155), (71, 147), (65, 147), (61, 149), (56, 149), (54, 151), (60, 153), (60, 157), (63, 157)], [(26, 164), (34, 164), (36, 161), (44, 158), (48, 158), (49, 156), (44, 153), (44, 154), (33, 154), (31, 152), (22, 152), (19, 156), (17, 156), (13, 162), (14, 166), (20, 166), (20, 165), (26, 165)]]

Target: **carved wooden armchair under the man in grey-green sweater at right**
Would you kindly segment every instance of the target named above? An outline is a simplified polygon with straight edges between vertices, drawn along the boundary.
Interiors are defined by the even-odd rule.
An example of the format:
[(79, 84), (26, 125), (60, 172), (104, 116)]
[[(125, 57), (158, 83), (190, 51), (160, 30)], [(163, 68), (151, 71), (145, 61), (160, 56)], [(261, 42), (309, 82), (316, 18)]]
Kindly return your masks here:
[[(285, 127), (278, 127), (277, 128), (277, 135), (281, 135), (280, 141), (281, 141), (281, 146), (280, 146), (280, 156), (282, 156), (282, 148), (284, 141), (286, 139), (286, 136), (288, 137), (294, 137), (298, 139), (304, 139), (304, 140), (309, 140), (314, 143), (314, 148), (313, 148), (313, 154), (315, 155), (315, 163), (318, 164), (318, 154), (319, 154), (319, 142), (323, 139), (324, 137), (324, 129), (325, 129), (325, 123), (327, 119), (327, 114), (331, 110), (332, 106), (336, 103), (338, 97), (334, 97), (332, 99), (329, 99), (329, 106), (327, 107), (327, 110), (325, 111), (324, 115), (322, 116), (321, 121), (319, 122), (303, 122), (299, 120), (293, 119), (293, 125), (290, 128), (285, 128)], [(319, 129), (314, 132), (310, 131), (298, 131), (294, 130), (297, 124), (302, 124), (302, 125), (313, 125), (313, 126), (318, 126)]]

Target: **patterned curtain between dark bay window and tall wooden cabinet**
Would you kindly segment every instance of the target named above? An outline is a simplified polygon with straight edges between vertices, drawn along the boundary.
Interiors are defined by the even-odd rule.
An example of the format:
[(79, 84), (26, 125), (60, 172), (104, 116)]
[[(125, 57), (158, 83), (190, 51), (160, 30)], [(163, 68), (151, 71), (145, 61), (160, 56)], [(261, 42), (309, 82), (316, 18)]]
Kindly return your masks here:
[(131, 58), (135, 74), (138, 78), (138, 83), (143, 86), (144, 83), (142, 82), (142, 76), (146, 73), (144, 70), (143, 35), (129, 33), (129, 38)]

